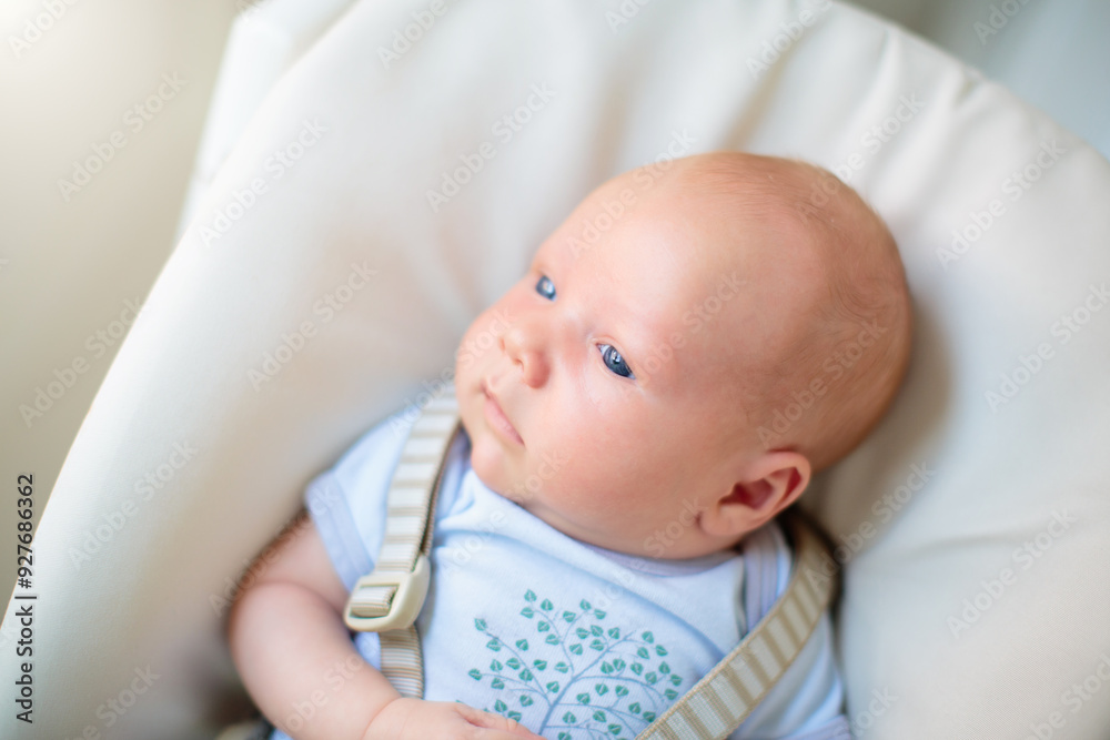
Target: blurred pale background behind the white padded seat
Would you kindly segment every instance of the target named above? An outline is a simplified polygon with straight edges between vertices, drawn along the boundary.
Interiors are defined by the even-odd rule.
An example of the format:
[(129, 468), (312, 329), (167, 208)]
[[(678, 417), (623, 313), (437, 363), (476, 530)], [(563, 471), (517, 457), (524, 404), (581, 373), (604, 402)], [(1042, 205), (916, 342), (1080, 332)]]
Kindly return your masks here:
[[(173, 249), (224, 43), (248, 8), (70, 2), (0, 3), (0, 543), (14, 535), (20, 473), (34, 474), (38, 520), (131, 305), (143, 303)], [(931, 39), (1110, 155), (1106, 0), (857, 4)], [(1012, 17), (987, 34), (992, 7)], [(57, 18), (36, 24), (50, 9)], [(97, 151), (102, 169), (62, 192), (74, 162)], [(41, 415), (39, 389), (40, 405), (50, 404)]]

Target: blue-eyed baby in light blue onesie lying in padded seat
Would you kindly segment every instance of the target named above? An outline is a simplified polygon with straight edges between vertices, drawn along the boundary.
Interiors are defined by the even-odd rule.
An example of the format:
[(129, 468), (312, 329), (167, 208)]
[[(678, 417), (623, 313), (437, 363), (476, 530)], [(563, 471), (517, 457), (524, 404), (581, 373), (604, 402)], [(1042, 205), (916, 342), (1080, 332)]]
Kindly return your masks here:
[[(773, 519), (878, 422), (910, 327), (890, 233), (824, 170), (722, 152), (603, 184), (463, 338), (490, 348), (457, 355), (425, 699), (341, 618), (404, 443), (382, 424), (232, 611), (275, 737), (635, 737), (783, 590)], [(731, 737), (847, 738), (841, 704), (826, 615)]]

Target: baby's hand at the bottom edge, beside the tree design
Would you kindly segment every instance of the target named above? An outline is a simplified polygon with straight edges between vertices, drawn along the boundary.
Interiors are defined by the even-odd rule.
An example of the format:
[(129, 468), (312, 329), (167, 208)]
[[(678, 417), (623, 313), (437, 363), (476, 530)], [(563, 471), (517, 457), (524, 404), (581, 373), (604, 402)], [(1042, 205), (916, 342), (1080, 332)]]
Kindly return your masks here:
[(363, 740), (543, 740), (515, 720), (458, 702), (394, 699), (366, 728)]

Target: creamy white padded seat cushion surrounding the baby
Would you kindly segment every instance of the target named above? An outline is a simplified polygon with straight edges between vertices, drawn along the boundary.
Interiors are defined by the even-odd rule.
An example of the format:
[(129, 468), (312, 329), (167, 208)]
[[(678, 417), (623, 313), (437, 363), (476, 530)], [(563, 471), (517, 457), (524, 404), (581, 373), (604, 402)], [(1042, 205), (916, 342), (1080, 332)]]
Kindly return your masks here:
[[(344, 16), (268, 99), (159, 277), (36, 540), (36, 732), (209, 737), (233, 681), (212, 606), (229, 577), (312, 475), (415, 403), (422, 379), (450, 375), (471, 317), (575, 203), (668, 146), (859, 165), (850, 183), (902, 251), (917, 310), (907, 384), (808, 494), (849, 546), (839, 645), (857, 732), (1107, 727), (1107, 162), (841, 6), (471, 0), (385, 69), (376, 48), (427, 7), (365, 0)], [(536, 89), (553, 97), (532, 98), (519, 131), (496, 126)], [(279, 166), (275, 150), (309, 125), (326, 131)], [(427, 191), (484, 142), (495, 155), (433, 212)], [(1015, 189), (1025, 170), (1036, 182)], [(234, 220), (212, 239), (220, 214)], [(942, 261), (953, 230), (967, 247)], [(185, 462), (174, 445), (196, 452)], [(149, 474), (160, 488), (143, 487)], [(124, 511), (78, 568), (73, 554)], [(98, 707), (148, 666), (160, 678), (105, 730)], [(1079, 699), (1084, 680), (1101, 693)]]

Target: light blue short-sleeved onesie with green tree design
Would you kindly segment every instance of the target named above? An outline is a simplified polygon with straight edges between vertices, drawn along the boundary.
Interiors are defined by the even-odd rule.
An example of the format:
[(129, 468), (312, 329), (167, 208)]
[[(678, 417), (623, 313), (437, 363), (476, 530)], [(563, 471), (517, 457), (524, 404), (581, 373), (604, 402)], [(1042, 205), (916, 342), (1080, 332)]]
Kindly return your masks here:
[[(383, 422), (307, 489), (349, 589), (373, 570), (406, 433)], [(743, 555), (690, 560), (579, 543), (487, 488), (463, 434), (448, 452), (432, 586), (416, 621), (424, 698), (505, 714), (552, 740), (635, 738), (740, 641), (786, 587), (789, 568), (774, 524), (746, 537)], [(830, 633), (825, 615), (731, 738), (850, 738)], [(355, 643), (380, 665), (376, 635), (356, 633)], [(286, 740), (280, 731), (273, 738)]]

